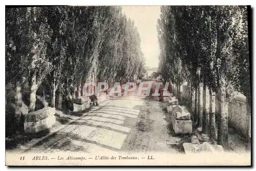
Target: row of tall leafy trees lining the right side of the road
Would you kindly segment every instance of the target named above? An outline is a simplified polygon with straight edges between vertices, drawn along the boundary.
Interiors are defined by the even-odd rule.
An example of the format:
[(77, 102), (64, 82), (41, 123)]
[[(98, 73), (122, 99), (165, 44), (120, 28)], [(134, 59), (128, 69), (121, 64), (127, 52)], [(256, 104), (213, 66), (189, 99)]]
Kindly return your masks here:
[(188, 82), (194, 122), (224, 148), (228, 147), (228, 102), (237, 92), (247, 100), (250, 147), (247, 11), (245, 6), (162, 6), (157, 25), (161, 75), (172, 82), (179, 99), (180, 86)]

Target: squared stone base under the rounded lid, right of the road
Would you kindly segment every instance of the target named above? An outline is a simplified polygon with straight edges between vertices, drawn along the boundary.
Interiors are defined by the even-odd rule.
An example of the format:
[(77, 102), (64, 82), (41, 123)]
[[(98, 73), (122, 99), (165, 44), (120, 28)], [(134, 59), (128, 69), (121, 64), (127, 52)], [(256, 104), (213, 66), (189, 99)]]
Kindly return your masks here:
[(191, 134), (192, 121), (191, 120), (173, 120), (173, 129), (175, 134)]

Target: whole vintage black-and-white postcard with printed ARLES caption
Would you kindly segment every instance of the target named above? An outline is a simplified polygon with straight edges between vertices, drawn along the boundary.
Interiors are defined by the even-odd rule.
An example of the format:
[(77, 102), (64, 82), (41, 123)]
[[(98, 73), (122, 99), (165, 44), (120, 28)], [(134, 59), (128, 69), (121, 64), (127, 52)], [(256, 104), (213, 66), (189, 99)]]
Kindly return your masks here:
[(8, 166), (250, 166), (250, 6), (6, 6)]

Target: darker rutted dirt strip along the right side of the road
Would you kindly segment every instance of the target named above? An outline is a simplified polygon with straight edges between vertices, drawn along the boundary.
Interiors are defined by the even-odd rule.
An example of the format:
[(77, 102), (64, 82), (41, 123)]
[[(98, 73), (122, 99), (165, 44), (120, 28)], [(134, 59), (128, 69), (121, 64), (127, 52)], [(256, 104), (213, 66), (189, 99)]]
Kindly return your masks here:
[(177, 153), (172, 144), (180, 141), (169, 132), (161, 102), (145, 100), (141, 107), (136, 126), (127, 137), (123, 149), (128, 152)]

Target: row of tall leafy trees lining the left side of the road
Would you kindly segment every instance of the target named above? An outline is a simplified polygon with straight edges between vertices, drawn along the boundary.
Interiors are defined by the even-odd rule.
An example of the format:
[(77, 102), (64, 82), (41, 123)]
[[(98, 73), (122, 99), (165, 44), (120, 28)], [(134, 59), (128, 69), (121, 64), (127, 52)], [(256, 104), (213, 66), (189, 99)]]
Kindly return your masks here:
[(86, 82), (113, 84), (144, 71), (139, 33), (121, 7), (6, 9), (6, 85), (15, 89), (16, 126), (26, 90), (29, 112), (38, 90), (49, 90), (50, 106), (72, 108)]

